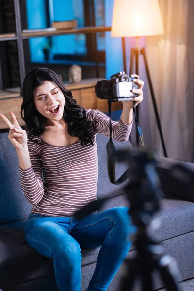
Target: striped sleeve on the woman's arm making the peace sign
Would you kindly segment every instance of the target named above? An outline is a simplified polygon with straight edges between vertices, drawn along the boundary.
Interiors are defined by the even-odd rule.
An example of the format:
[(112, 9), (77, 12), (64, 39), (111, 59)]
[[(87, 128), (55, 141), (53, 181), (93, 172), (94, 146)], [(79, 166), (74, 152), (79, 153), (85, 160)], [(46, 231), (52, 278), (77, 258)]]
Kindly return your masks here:
[(19, 167), (20, 182), (23, 194), (28, 202), (31, 204), (37, 204), (44, 195), (41, 161), (38, 157), (35, 146), (32, 146), (29, 141), (28, 150), (32, 166), (26, 170)]

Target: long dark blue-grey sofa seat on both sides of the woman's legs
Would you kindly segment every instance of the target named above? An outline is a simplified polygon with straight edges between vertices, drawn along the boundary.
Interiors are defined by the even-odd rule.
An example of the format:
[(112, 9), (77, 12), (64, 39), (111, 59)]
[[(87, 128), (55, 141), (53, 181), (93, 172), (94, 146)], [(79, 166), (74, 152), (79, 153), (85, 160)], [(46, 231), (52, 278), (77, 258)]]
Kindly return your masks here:
[[(129, 206), (125, 195), (107, 199), (101, 211), (116, 206)], [(157, 214), (160, 227), (153, 233), (160, 241), (194, 231), (194, 204), (178, 199), (163, 199)], [(52, 259), (43, 257), (24, 237), (26, 220), (0, 226), (0, 286), (10, 282), (18, 284), (41, 276), (53, 274)], [(130, 251), (135, 249), (132, 245)], [(96, 262), (99, 248), (82, 248), (81, 265)]]

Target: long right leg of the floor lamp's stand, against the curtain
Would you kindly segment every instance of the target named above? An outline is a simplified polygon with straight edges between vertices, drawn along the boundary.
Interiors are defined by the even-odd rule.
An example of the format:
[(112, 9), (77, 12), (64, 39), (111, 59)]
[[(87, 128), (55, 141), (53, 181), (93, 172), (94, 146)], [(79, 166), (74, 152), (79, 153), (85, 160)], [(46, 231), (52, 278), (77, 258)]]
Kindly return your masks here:
[(157, 122), (158, 130), (159, 130), (159, 133), (160, 133), (160, 137), (161, 137), (163, 152), (164, 152), (164, 156), (167, 158), (167, 152), (166, 152), (166, 147), (165, 147), (165, 144), (164, 144), (162, 128), (161, 128), (161, 122), (160, 122), (158, 109), (157, 109), (157, 105), (156, 105), (156, 99), (155, 99), (155, 96), (154, 96), (154, 90), (153, 90), (153, 86), (152, 86), (151, 76), (150, 76), (150, 73), (149, 73), (149, 67), (148, 67), (148, 63), (147, 63), (147, 57), (146, 57), (145, 48), (141, 49), (141, 54), (144, 57), (144, 63), (145, 63), (145, 66), (146, 66), (146, 74), (147, 74), (147, 79), (148, 79), (148, 82), (149, 82), (149, 88), (150, 88), (150, 92), (151, 92), (152, 103), (153, 103), (153, 106), (154, 106), (156, 122)]

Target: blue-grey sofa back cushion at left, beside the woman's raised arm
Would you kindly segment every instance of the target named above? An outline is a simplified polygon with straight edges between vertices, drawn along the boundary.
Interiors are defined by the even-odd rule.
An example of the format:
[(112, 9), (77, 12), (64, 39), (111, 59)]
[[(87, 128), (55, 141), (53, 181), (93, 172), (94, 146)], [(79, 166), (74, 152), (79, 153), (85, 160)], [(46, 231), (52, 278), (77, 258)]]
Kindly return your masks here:
[(0, 133), (0, 224), (27, 218), (32, 204), (20, 185), (19, 162), (8, 133)]

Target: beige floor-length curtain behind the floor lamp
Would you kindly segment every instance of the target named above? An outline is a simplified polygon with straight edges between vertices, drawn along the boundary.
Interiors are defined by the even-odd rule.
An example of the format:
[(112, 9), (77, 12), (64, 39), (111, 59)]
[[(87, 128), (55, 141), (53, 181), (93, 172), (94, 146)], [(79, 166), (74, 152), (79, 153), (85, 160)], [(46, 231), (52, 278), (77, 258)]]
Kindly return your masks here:
[[(170, 158), (194, 159), (194, 0), (159, 0), (165, 35), (146, 38), (146, 52)], [(163, 155), (149, 95), (152, 145)]]

